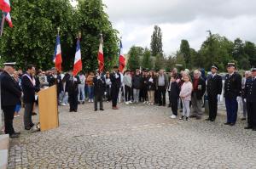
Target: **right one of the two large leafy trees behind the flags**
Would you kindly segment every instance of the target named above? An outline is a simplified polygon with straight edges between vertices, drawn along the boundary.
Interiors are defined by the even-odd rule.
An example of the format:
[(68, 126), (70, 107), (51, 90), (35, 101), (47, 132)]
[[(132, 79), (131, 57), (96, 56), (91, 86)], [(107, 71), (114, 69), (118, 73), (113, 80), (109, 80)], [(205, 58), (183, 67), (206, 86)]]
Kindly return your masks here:
[(96, 69), (99, 39), (102, 32), (105, 70), (118, 63), (119, 38), (104, 12), (102, 0), (80, 0), (76, 11), (77, 31), (82, 33), (81, 53), (85, 70)]

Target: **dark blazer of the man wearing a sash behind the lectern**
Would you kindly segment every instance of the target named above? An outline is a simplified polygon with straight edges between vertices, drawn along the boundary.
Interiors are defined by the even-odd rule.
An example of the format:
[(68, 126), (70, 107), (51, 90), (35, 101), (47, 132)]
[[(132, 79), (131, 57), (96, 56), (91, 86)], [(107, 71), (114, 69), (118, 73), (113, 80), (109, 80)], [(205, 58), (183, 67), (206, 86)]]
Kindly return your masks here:
[(35, 101), (35, 93), (40, 91), (36, 84), (33, 84), (31, 80), (27, 77), (28, 74), (24, 74), (21, 79), (21, 86), (23, 91), (23, 102), (26, 104), (33, 103)]

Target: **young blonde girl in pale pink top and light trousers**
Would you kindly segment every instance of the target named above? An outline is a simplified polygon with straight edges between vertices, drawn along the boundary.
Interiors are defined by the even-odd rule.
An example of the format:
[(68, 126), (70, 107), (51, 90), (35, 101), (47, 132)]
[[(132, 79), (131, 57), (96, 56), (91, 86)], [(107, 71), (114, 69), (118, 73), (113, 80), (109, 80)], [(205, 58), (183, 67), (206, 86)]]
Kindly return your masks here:
[(189, 103), (191, 100), (193, 85), (190, 82), (189, 75), (184, 75), (183, 81), (184, 81), (183, 86), (181, 87), (181, 91), (179, 94), (179, 97), (182, 99), (182, 103), (183, 103), (183, 115), (181, 116), (180, 120), (188, 121), (189, 114), (190, 114)]

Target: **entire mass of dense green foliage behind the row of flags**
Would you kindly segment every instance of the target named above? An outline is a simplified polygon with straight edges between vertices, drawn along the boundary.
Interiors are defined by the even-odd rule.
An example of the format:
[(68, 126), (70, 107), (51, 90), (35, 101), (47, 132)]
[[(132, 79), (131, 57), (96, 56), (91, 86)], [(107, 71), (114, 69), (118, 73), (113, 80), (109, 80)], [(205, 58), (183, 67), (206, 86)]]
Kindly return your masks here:
[(73, 8), (69, 0), (13, 0), (14, 28), (5, 25), (0, 38), (0, 55), (16, 61), (20, 67), (28, 64), (49, 69), (55, 49), (57, 27), (61, 28), (62, 66), (73, 68), (76, 40), (82, 33), (81, 53), (84, 70), (95, 69), (99, 33), (104, 35), (107, 67), (118, 56), (117, 31), (113, 30), (102, 1), (84, 0)]

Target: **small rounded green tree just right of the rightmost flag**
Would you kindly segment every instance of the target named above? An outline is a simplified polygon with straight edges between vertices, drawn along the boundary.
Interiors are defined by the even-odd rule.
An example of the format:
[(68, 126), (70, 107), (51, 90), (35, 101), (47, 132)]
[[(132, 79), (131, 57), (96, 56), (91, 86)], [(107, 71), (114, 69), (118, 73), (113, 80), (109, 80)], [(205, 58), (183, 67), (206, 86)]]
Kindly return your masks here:
[(126, 67), (131, 70), (136, 70), (138, 67), (140, 67), (140, 49), (136, 46), (132, 46), (129, 50), (129, 59), (127, 61)]

